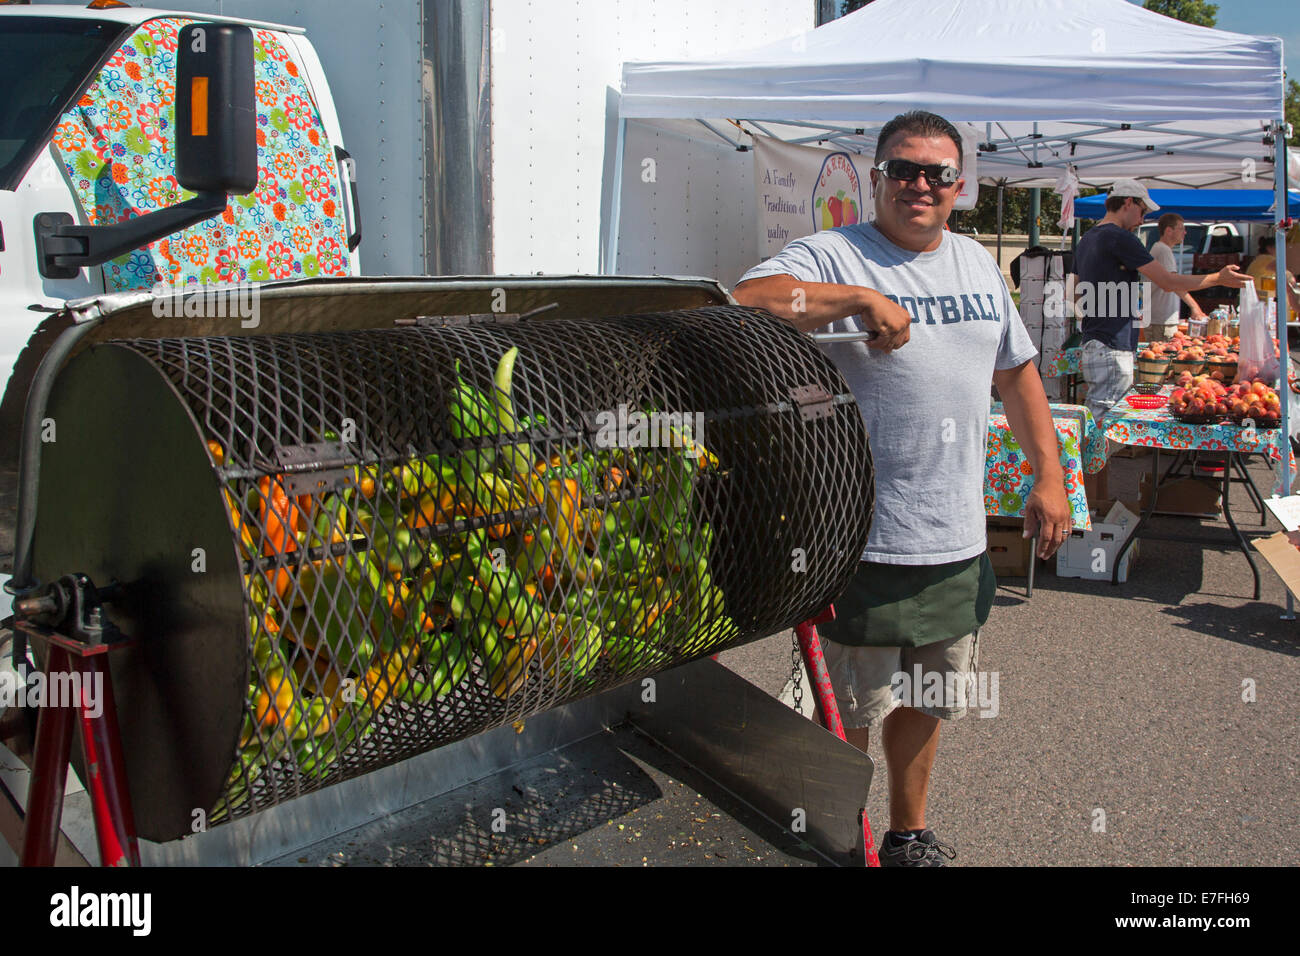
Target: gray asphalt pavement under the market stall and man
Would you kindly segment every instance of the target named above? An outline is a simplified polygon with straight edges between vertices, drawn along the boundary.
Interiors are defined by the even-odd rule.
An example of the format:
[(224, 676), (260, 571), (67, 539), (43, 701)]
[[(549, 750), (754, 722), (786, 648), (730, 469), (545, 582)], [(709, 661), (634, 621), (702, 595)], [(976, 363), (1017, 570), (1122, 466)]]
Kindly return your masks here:
[[(1271, 473), (1252, 459), (1256, 483)], [(1135, 501), (1149, 459), (1112, 459), (1113, 497)], [(1265, 490), (1268, 494), (1268, 490)], [(1261, 528), (1245, 492), (1234, 516)], [(956, 865), (1295, 865), (1300, 861), (1300, 622), (1256, 555), (1261, 600), (1222, 522), (1154, 519), (1223, 545), (1143, 541), (1128, 581), (1001, 580), (980, 632), (997, 713), (944, 724), (927, 823)], [(1217, 531), (1216, 531), (1217, 529)], [(720, 661), (780, 695), (790, 636)], [(988, 684), (992, 688), (992, 683)], [(810, 708), (805, 705), (805, 710)], [(868, 818), (888, 829), (878, 741)]]

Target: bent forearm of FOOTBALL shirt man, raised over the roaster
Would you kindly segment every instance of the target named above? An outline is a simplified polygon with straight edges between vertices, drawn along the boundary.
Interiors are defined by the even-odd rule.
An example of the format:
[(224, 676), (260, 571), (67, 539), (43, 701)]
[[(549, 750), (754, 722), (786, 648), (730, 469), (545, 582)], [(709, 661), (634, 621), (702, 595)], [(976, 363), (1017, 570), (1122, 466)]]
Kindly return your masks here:
[(862, 315), (863, 324), (880, 337), (871, 349), (890, 352), (911, 337), (911, 315), (875, 289), (835, 282), (803, 282), (794, 276), (762, 276), (741, 282), (732, 293), (742, 306), (766, 308), (790, 321), (800, 332), (812, 332), (836, 319)]

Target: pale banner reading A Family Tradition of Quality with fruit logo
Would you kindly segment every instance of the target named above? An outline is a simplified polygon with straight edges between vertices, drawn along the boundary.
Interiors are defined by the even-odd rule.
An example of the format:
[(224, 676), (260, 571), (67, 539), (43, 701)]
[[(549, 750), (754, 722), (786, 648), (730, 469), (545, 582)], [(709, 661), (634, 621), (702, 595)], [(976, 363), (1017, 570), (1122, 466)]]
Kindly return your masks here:
[(870, 165), (870, 156), (755, 137), (759, 256), (822, 229), (870, 220), (871, 181), (863, 174)]

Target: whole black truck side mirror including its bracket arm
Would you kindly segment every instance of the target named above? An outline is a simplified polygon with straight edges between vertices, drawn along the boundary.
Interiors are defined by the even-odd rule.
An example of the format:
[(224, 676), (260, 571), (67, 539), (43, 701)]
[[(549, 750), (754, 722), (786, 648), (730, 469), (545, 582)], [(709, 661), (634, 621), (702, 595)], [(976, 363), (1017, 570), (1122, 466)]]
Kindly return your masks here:
[(191, 23), (181, 29), (177, 51), (176, 178), (198, 195), (107, 226), (78, 225), (66, 212), (36, 213), (36, 265), (46, 278), (75, 278), (86, 267), (220, 216), (228, 194), (257, 187), (252, 30)]

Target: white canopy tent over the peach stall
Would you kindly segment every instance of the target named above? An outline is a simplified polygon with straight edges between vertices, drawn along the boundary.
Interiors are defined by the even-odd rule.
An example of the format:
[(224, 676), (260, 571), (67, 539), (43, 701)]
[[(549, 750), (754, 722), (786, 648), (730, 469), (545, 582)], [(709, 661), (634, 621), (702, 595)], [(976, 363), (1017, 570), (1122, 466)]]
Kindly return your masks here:
[[(875, 0), (757, 49), (624, 64), (603, 268), (618, 263), (629, 121), (689, 121), (733, 148), (754, 130), (867, 152), (909, 109), (983, 129), (980, 182), (1053, 186), (1074, 166), (1095, 186), (1271, 183), (1283, 216), (1282, 40), (1126, 0)], [(1284, 241), (1278, 254), (1280, 273)]]

